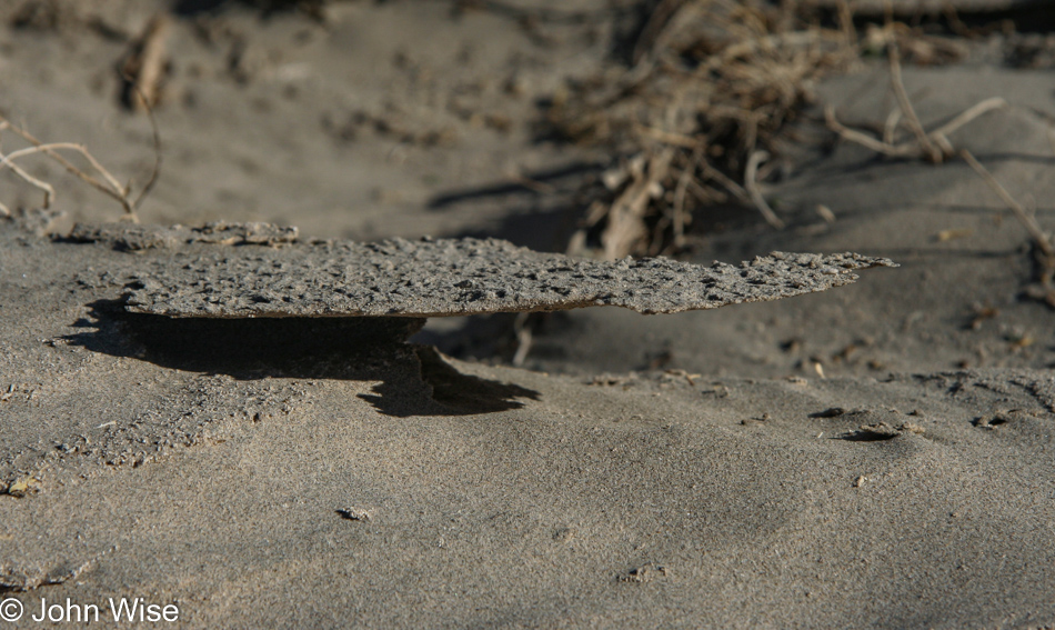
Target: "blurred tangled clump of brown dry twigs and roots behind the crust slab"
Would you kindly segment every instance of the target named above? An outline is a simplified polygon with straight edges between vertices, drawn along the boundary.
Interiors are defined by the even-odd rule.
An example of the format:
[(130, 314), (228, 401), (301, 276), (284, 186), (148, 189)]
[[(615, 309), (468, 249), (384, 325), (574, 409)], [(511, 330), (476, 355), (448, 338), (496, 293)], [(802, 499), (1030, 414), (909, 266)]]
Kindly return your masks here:
[[(661, 0), (622, 77), (572, 84), (554, 99), (551, 132), (622, 157), (619, 178), (587, 184), (590, 216), (570, 249), (600, 248), (606, 258), (677, 251), (694, 212), (724, 201), (726, 191), (770, 226), (783, 226), (758, 193), (761, 157), (774, 151), (811, 86), (857, 59), (848, 4), (841, 30), (796, 11), (794, 0), (782, 8)], [(647, 170), (647, 184), (632, 172), (627, 156), (650, 161), (667, 153), (666, 168)]]

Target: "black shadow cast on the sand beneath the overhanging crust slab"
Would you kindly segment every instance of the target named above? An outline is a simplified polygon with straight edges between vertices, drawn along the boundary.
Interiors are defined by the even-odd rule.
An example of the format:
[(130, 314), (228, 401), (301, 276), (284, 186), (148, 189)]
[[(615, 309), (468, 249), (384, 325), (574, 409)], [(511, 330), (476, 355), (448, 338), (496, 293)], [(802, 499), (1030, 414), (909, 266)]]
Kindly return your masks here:
[(435, 349), (406, 343), (420, 318), (169, 318), (130, 313), (123, 302), (88, 304), (91, 329), (67, 336), (93, 352), (174, 370), (268, 377), (381, 381), (360, 394), (386, 416), (462, 416), (519, 409), (537, 400), (519, 386), (460, 373)]

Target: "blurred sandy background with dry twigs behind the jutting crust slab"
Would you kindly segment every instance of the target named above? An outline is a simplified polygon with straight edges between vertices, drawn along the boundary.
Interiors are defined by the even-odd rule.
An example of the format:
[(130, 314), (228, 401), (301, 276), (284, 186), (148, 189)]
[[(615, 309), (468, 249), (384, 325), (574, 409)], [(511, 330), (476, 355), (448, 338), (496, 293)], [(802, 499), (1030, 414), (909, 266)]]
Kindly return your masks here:
[(1049, 367), (1053, 27), (1031, 0), (7, 0), (0, 211), (609, 260), (854, 250), (903, 267), (419, 339), (583, 374)]

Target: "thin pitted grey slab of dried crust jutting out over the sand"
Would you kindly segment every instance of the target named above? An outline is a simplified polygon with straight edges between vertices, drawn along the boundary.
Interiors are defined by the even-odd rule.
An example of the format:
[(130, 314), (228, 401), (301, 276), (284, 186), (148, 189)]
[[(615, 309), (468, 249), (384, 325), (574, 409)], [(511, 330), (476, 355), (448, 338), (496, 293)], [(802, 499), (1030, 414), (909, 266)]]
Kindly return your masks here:
[[(79, 233), (86, 233), (81, 230)], [(109, 239), (112, 241), (112, 239)], [(894, 267), (855, 253), (774, 252), (742, 267), (599, 262), (488, 239), (202, 248), (152, 257), (127, 308), (169, 317), (446, 317), (590, 306), (674, 313), (823, 291)]]

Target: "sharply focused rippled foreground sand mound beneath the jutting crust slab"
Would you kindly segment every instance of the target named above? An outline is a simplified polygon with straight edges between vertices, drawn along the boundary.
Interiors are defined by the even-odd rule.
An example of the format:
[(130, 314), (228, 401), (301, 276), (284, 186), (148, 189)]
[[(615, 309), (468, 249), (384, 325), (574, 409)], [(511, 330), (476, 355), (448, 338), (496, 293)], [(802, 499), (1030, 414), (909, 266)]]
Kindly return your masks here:
[(262, 350), (274, 330), (181, 353), (114, 304), (141, 256), (0, 238), (0, 461), (21, 483), (0, 497), (0, 581), (29, 610), (138, 596), (194, 628), (1055, 617), (1047, 372), (576, 379), (356, 351), (341, 330), (309, 353)]

